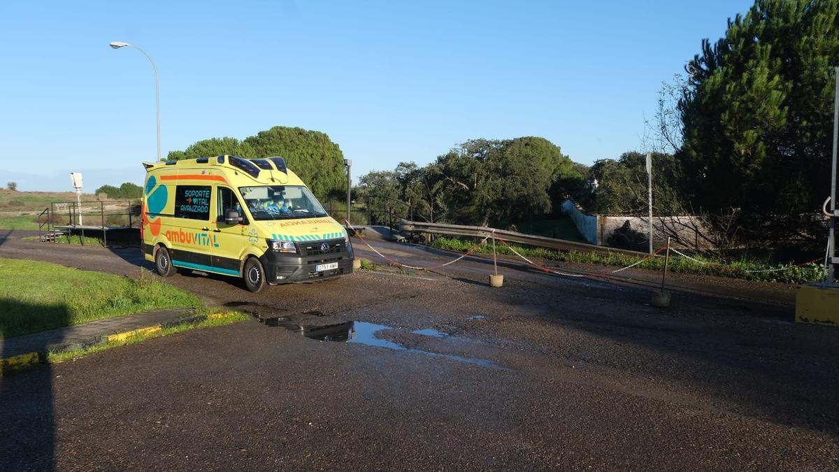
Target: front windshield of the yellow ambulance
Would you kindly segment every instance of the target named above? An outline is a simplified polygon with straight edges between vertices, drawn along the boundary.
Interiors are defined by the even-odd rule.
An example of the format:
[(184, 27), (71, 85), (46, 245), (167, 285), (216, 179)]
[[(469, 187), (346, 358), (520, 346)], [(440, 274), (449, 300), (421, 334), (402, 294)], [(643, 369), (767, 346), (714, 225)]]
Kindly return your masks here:
[(257, 221), (326, 217), (305, 186), (242, 186), (239, 192)]

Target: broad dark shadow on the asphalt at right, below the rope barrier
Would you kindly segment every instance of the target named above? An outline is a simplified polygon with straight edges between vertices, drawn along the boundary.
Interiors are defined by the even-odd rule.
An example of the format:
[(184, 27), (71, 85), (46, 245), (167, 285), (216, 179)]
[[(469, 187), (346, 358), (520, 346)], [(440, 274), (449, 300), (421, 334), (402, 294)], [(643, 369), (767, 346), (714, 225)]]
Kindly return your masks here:
[[(603, 371), (624, 371), (666, 401), (690, 392), (737, 414), (839, 436), (839, 337), (835, 328), (779, 321), (789, 308), (680, 293), (673, 307), (649, 306), (649, 292), (570, 288), (542, 300), (491, 291), (498, 303), (533, 306), (545, 322), (622, 346), (623, 357), (582, 347), (572, 356)], [(518, 299), (517, 299), (518, 298)], [(600, 344), (594, 342), (592, 345)], [(563, 355), (568, 355), (565, 353)], [(607, 376), (607, 380), (610, 378)], [(685, 385), (670, 387), (668, 385)], [(686, 387), (686, 388), (685, 388)], [(641, 387), (638, 395), (649, 393)], [(659, 395), (659, 394), (655, 394)], [(724, 401), (722, 401), (724, 399)], [(707, 406), (707, 405), (706, 405)], [(703, 407), (706, 407), (703, 406)]]

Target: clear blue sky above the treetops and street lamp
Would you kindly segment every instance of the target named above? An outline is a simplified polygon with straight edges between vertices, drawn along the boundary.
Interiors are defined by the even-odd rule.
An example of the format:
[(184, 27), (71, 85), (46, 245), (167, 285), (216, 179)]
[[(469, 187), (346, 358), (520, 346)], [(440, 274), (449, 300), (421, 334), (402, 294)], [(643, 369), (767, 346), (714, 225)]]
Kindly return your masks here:
[(661, 81), (751, 1), (0, 3), (0, 185), (142, 182), (156, 155), (275, 125), (329, 134), (353, 175), (466, 139), (638, 149)]

